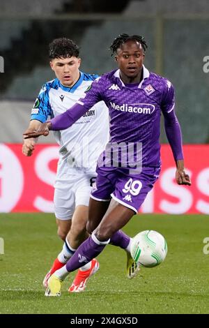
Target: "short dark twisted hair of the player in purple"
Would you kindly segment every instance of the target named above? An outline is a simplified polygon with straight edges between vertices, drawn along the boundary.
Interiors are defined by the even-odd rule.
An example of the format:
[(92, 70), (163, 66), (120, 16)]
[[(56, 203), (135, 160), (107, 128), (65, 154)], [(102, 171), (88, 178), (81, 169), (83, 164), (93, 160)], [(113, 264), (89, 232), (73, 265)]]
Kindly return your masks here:
[(144, 52), (146, 52), (148, 46), (146, 44), (146, 40), (144, 40), (144, 36), (137, 36), (135, 34), (133, 36), (129, 36), (128, 34), (123, 33), (119, 34), (109, 47), (109, 50), (111, 51), (111, 56), (113, 56), (117, 52), (118, 48), (120, 48), (123, 43), (126, 43), (129, 40), (134, 40), (141, 43), (141, 47), (143, 47)]

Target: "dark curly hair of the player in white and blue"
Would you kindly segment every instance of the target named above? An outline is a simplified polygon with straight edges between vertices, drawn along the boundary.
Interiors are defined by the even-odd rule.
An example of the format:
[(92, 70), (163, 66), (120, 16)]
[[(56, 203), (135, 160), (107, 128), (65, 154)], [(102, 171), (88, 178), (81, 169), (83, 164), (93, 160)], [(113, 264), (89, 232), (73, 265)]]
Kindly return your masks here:
[(49, 43), (49, 59), (79, 57), (79, 47), (70, 38), (56, 38)]

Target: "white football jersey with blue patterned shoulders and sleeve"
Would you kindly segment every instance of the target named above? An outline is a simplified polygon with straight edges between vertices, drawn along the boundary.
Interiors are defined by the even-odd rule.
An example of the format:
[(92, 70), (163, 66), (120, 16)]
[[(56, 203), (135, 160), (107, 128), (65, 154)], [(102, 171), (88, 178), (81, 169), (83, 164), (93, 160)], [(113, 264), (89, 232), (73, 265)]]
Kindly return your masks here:
[[(77, 83), (64, 87), (56, 78), (43, 84), (31, 111), (31, 120), (45, 122), (68, 110), (98, 75), (80, 72)], [(103, 101), (91, 107), (70, 128), (54, 132), (59, 143), (59, 154), (72, 167), (86, 167), (95, 170), (96, 161), (109, 140), (109, 112)]]

